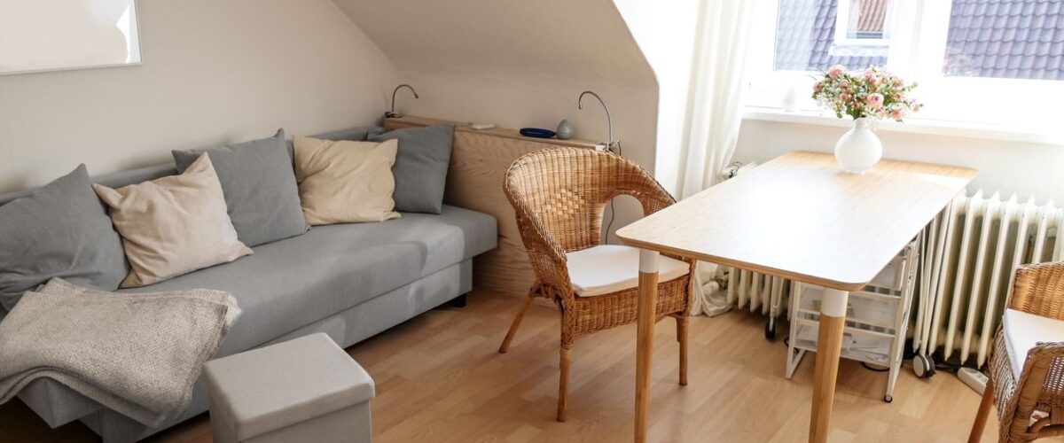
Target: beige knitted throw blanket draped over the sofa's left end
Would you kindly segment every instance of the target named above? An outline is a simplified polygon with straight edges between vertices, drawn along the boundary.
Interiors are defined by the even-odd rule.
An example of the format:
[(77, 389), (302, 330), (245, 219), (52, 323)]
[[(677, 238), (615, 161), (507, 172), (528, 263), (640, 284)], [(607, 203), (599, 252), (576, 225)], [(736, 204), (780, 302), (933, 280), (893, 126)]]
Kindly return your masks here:
[(47, 377), (157, 427), (184, 413), (239, 312), (221, 291), (120, 294), (52, 279), (0, 322), (0, 404)]

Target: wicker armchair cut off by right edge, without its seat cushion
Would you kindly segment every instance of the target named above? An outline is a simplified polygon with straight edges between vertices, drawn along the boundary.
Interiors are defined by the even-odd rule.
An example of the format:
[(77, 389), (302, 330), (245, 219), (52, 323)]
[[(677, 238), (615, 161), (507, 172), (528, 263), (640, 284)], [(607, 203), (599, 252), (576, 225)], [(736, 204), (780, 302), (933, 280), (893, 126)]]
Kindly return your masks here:
[[(1016, 271), (1011, 309), (1064, 320), (1064, 262), (1021, 267)], [(969, 442), (982, 437), (996, 403), (1001, 442), (1027, 442), (1064, 435), (1064, 343), (1038, 343), (1027, 353), (1019, 377), (1005, 350), (1003, 327), (994, 338), (990, 380), (971, 426)], [(995, 402), (996, 401), (996, 402)], [(1034, 419), (1032, 414), (1040, 411)]]

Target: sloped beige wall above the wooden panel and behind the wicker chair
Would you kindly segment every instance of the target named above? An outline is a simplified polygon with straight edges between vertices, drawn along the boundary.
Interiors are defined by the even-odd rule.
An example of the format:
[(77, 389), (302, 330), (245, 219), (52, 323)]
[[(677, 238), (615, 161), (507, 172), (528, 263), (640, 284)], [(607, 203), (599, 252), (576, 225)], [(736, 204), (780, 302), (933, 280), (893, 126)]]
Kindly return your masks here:
[[(400, 92), (410, 115), (505, 127), (553, 130), (605, 140), (602, 96), (625, 156), (653, 171), (658, 82), (612, 0), (334, 0), (393, 61), (420, 100)], [(614, 228), (642, 210), (618, 205)]]

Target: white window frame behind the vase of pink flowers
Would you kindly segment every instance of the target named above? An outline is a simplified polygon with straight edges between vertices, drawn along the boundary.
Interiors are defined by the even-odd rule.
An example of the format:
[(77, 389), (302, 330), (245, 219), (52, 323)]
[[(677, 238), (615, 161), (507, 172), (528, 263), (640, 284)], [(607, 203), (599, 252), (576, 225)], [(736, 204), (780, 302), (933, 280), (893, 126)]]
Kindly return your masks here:
[[(765, 4), (757, 8), (763, 15), (754, 20), (750, 39), (747, 106), (752, 110), (785, 109), (835, 118), (818, 108), (810, 97), (812, 76), (818, 72), (772, 69), (778, 1), (759, 1)], [(1031, 134), (1059, 132), (1064, 136), (1064, 125), (1054, 118), (1059, 105), (1052, 105), (1064, 103), (1064, 81), (945, 76), (941, 67), (952, 1), (895, 1), (892, 6), (894, 28), (890, 31), (886, 68), (907, 81), (916, 81), (919, 86), (915, 96), (925, 104), (907, 121), (979, 123)]]

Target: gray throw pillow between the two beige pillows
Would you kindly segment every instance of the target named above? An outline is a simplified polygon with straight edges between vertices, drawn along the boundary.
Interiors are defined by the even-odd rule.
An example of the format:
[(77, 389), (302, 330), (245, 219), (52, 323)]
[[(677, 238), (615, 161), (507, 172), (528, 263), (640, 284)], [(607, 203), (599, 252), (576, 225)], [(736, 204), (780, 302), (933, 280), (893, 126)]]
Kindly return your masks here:
[(255, 246), (295, 237), (310, 226), (285, 148), (284, 130), (270, 138), (207, 150), (173, 151), (178, 173), (206, 152), (226, 194), (229, 218), (240, 242)]

